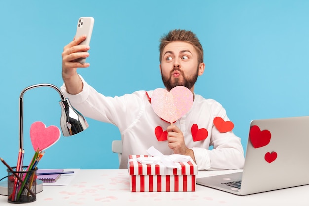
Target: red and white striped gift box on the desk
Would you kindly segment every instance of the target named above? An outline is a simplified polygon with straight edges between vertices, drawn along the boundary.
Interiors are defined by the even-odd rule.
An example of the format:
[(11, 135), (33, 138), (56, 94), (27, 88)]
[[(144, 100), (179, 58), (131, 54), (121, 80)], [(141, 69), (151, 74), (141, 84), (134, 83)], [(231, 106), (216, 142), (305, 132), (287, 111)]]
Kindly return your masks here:
[(175, 162), (180, 169), (170, 169), (164, 165), (142, 164), (139, 157), (148, 155), (129, 155), (129, 174), (131, 192), (185, 192), (195, 191), (197, 165), (194, 161)]

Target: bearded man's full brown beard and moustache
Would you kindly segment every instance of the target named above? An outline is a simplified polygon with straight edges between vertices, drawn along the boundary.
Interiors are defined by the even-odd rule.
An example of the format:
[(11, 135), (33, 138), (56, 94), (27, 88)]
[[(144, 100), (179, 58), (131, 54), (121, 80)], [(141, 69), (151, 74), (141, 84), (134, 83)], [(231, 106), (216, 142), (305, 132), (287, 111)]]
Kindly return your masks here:
[[(172, 82), (172, 73), (176, 70), (181, 73), (183, 81), (181, 81), (179, 78), (174, 78), (173, 82)], [(194, 86), (195, 82), (197, 81), (198, 68), (196, 70), (196, 73), (191, 78), (185, 77), (184, 72), (180, 69), (177, 69), (177, 68), (174, 68), (170, 72), (169, 77), (164, 77), (162, 71), (161, 71), (161, 76), (162, 76), (162, 80), (163, 80), (164, 86), (166, 87), (167, 91), (170, 91), (175, 86), (185, 86), (188, 89), (191, 89)]]

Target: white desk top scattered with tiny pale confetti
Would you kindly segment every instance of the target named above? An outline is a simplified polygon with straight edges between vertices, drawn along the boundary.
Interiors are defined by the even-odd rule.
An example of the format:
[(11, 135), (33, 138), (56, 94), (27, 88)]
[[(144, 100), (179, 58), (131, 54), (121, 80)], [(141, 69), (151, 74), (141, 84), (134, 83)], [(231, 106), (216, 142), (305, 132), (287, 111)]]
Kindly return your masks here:
[[(197, 177), (234, 171), (199, 171)], [(69, 186), (44, 186), (31, 206), (309, 206), (309, 185), (237, 196), (196, 185), (195, 192), (129, 191), (128, 170), (80, 170)], [(0, 195), (0, 206), (12, 206)]]

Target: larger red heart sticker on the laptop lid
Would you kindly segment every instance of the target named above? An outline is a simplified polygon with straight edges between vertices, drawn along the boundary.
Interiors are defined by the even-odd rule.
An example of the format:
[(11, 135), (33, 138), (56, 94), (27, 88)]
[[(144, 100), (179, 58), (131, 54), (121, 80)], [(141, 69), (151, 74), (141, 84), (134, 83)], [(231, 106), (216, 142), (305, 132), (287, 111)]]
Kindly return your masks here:
[(249, 139), (254, 148), (264, 147), (270, 143), (271, 133), (269, 130), (261, 131), (256, 125), (250, 128)]

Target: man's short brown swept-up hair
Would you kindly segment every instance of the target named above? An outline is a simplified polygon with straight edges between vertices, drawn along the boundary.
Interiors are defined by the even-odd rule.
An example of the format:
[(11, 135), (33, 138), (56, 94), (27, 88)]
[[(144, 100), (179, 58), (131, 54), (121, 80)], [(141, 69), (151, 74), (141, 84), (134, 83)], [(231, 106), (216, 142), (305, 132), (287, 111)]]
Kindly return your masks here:
[(160, 63), (162, 61), (162, 52), (165, 46), (173, 41), (183, 41), (190, 43), (197, 51), (198, 64), (204, 62), (204, 51), (196, 35), (190, 30), (171, 30), (168, 34), (164, 35), (160, 40)]

